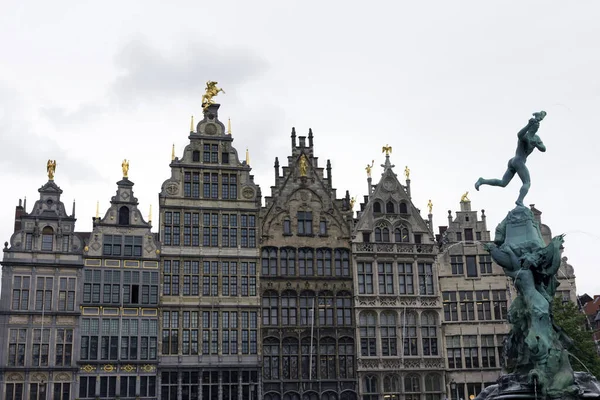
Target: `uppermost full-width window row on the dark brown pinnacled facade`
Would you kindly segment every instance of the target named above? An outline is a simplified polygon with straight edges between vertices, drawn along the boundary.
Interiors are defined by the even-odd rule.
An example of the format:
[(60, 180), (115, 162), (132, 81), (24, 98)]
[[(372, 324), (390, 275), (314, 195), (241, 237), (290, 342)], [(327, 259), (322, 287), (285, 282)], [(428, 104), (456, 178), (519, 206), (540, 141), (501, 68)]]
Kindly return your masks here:
[(350, 276), (348, 249), (263, 247), (262, 276)]

